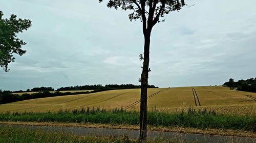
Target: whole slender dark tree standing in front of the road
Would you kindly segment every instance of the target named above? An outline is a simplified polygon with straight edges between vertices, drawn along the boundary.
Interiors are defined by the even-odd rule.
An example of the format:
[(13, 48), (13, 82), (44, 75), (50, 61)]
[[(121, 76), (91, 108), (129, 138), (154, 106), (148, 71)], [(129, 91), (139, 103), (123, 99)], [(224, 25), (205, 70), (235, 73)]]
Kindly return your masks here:
[[(102, 0), (99, 0), (101, 3)], [(143, 60), (141, 73), (141, 96), (140, 96), (140, 141), (146, 140), (146, 116), (147, 116), (147, 84), (148, 68), (150, 63), (150, 40), (154, 25), (164, 19), (160, 19), (165, 14), (172, 11), (179, 11), (185, 6), (184, 0), (108, 0), (107, 7), (122, 10), (131, 10), (129, 19), (131, 21), (140, 19), (144, 35), (144, 55), (140, 54)]]

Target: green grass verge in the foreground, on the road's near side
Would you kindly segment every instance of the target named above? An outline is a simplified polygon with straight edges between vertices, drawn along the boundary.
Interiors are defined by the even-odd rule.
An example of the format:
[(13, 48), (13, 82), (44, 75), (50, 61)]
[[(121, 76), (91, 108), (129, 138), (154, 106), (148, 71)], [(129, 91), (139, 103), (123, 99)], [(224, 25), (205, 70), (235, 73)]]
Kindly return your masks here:
[[(123, 136), (119, 138), (114, 138), (113, 136), (109, 137), (94, 137), (94, 136), (74, 136), (72, 134), (65, 134), (65, 133), (52, 133), (40, 130), (27, 130), (27, 129), (20, 129), (20, 128), (6, 128), (0, 126), (0, 142), (1, 143), (9, 143), (9, 142), (17, 142), (17, 143), (136, 143), (139, 142), (135, 139), (129, 139), (128, 136)], [(185, 143), (184, 141), (180, 140), (149, 140), (148, 143)], [(191, 142), (191, 143), (199, 143)]]

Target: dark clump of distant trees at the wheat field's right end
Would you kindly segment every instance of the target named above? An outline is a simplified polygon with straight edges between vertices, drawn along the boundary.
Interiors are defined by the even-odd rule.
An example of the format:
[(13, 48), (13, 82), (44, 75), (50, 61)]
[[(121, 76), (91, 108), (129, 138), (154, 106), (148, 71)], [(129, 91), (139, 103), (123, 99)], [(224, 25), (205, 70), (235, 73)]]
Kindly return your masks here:
[(238, 80), (237, 82), (234, 79), (230, 78), (228, 82), (225, 82), (223, 85), (226, 85), (230, 89), (235, 89), (239, 91), (246, 92), (255, 92), (256, 93), (256, 78), (250, 78), (247, 80)]

